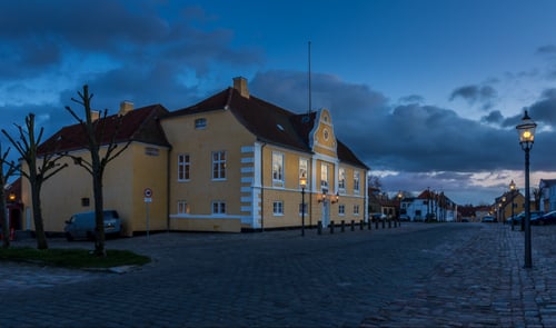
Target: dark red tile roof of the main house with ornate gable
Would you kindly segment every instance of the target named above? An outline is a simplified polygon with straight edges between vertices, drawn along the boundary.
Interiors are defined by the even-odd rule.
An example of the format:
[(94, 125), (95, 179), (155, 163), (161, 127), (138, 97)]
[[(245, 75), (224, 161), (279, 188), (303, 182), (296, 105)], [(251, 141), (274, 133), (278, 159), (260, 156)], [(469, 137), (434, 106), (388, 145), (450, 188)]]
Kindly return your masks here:
[[(242, 97), (239, 91), (231, 87), (191, 107), (172, 111), (162, 119), (212, 110), (230, 110), (238, 121), (262, 142), (270, 142), (296, 150), (311, 152), (309, 147), (309, 133), (315, 125), (315, 112), (302, 115), (294, 113), (254, 97), (252, 95), (249, 98)], [(339, 140), (337, 153), (340, 161), (368, 169), (368, 167)]]

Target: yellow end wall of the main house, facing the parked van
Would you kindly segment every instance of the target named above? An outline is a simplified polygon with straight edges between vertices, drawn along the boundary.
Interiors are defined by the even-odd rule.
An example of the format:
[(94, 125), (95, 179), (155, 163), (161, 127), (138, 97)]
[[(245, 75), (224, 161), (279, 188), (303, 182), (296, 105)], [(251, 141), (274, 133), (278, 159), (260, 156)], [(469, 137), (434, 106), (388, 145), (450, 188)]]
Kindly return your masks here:
[[(195, 128), (195, 120), (203, 118), (207, 126)], [(169, 118), (161, 121), (172, 145), (170, 159), (170, 222), (171, 229), (205, 227), (199, 220), (236, 220), (241, 216), (241, 147), (255, 145), (255, 136), (241, 126), (228, 110)], [(226, 179), (212, 180), (212, 152), (226, 151)], [(191, 175), (188, 181), (178, 181), (178, 155), (190, 156)], [(178, 201), (186, 201), (189, 213), (178, 215)], [(212, 201), (226, 202), (225, 215), (212, 215)], [(240, 223), (209, 223), (209, 230), (220, 227), (239, 231)], [(217, 226), (215, 228), (215, 226)], [(195, 227), (195, 228), (192, 228)], [(212, 228), (210, 228), (212, 227)], [(225, 229), (225, 228), (222, 228)]]

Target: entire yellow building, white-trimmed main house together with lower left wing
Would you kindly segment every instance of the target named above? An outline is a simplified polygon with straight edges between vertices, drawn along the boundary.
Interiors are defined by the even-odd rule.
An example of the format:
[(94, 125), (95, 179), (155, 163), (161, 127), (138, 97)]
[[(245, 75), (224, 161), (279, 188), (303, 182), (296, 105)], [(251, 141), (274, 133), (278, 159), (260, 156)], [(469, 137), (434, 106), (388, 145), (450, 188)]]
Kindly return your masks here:
[[(123, 126), (117, 140), (131, 143), (107, 167), (105, 208), (120, 212), (128, 236), (147, 228), (239, 232), (366, 218), (368, 168), (336, 139), (326, 109), (292, 113), (250, 96), (247, 80), (236, 78), (234, 87), (185, 109), (123, 103), (118, 115)], [(80, 129), (62, 128), (42, 151), (87, 158)], [(90, 175), (68, 163), (43, 186), (47, 231), (62, 231), (70, 215), (93, 209)], [(146, 188), (153, 192), (148, 205)]]

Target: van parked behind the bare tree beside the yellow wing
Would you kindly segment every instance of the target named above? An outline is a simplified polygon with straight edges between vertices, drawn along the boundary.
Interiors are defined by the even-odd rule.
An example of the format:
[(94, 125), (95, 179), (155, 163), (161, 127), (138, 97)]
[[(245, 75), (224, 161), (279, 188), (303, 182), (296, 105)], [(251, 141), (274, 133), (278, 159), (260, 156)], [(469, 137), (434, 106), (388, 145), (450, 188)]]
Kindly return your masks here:
[[(95, 239), (95, 211), (72, 215), (63, 228), (68, 241), (75, 239)], [(121, 219), (117, 211), (105, 210), (105, 233), (119, 235)]]

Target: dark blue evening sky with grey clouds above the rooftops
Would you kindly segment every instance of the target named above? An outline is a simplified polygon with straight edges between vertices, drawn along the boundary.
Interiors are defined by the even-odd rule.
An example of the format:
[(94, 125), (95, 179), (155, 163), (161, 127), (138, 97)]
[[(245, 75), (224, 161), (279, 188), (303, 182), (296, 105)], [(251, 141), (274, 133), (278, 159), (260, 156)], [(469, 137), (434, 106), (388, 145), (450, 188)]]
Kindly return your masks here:
[[(2, 1), (1, 128), (47, 135), (93, 105), (183, 108), (246, 77), (252, 95), (331, 110), (389, 192), (490, 203), (524, 185), (515, 125), (539, 125), (532, 186), (556, 178), (556, 1)], [(2, 142), (6, 142), (2, 139)]]

